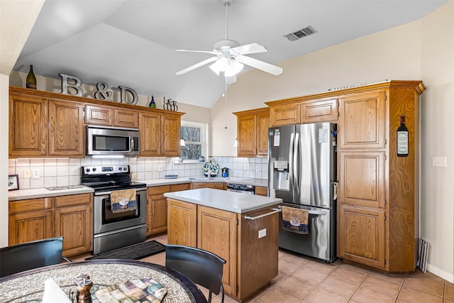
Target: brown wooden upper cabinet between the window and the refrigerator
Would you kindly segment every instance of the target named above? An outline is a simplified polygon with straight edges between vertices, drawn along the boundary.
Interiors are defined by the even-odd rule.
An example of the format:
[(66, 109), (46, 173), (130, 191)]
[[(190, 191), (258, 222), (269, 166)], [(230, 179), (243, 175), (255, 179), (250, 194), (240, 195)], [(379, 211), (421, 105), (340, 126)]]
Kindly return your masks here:
[(253, 109), (233, 113), (237, 119), (237, 155), (244, 157), (268, 154), (270, 109)]

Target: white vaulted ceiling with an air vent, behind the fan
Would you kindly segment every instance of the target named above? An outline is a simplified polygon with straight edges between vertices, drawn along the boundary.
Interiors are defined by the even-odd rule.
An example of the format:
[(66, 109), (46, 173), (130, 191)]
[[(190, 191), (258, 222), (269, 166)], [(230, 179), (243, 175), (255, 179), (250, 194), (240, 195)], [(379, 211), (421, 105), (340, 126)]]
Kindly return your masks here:
[[(415, 21), (445, 2), (236, 0), (228, 7), (228, 38), (265, 46), (267, 53), (250, 57), (279, 66), (292, 57)], [(317, 33), (293, 42), (283, 37), (307, 26)], [(121, 85), (138, 94), (211, 108), (223, 93), (222, 76), (209, 65), (175, 75), (211, 55), (175, 50), (213, 50), (225, 38), (222, 0), (47, 0), (13, 69), (28, 72), (33, 64), (36, 75), (59, 78), (65, 73), (85, 84), (106, 82), (111, 88)]]

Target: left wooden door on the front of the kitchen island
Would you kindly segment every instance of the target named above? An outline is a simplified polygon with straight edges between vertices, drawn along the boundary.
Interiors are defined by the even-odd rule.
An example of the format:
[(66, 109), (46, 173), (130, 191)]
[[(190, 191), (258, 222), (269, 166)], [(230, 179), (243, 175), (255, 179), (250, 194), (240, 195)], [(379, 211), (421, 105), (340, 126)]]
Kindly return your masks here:
[(167, 222), (167, 243), (197, 247), (197, 204), (167, 199)]

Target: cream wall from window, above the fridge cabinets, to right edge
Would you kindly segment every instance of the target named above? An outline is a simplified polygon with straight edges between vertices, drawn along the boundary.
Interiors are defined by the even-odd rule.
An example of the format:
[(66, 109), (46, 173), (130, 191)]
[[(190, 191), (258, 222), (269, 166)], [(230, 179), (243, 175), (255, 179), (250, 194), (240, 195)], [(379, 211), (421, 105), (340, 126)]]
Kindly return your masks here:
[[(228, 89), (228, 111), (262, 107), (265, 101), (325, 92), (332, 87), (421, 79), (421, 237), (430, 243), (428, 270), (454, 282), (453, 67), (454, 0), (425, 18), (335, 45), (278, 65), (274, 77), (253, 71)], [(304, 43), (301, 39), (294, 43)], [(228, 116), (228, 131), (223, 128)], [(211, 109), (213, 155), (235, 155), (236, 117), (223, 99)], [(448, 167), (432, 167), (433, 156)]]

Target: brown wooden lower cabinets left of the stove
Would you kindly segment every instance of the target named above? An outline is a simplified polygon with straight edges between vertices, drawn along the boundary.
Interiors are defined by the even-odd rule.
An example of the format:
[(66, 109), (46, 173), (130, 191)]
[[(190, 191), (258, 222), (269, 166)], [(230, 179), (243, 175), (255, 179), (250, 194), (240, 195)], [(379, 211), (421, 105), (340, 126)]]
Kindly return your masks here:
[(92, 250), (92, 194), (9, 202), (9, 245), (63, 236), (63, 255)]

